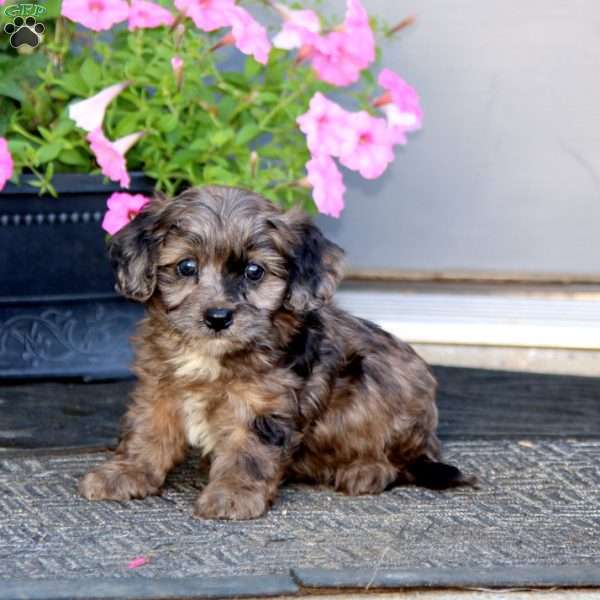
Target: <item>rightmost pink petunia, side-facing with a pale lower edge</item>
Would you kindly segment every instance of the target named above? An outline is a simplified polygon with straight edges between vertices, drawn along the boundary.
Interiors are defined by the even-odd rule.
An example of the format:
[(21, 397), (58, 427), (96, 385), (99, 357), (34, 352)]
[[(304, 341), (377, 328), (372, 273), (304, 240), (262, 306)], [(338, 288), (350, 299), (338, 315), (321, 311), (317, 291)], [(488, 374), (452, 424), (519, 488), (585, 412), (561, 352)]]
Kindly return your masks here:
[(390, 69), (383, 69), (377, 81), (386, 92), (374, 104), (385, 113), (397, 143), (405, 143), (405, 132), (420, 129), (423, 124), (419, 95)]

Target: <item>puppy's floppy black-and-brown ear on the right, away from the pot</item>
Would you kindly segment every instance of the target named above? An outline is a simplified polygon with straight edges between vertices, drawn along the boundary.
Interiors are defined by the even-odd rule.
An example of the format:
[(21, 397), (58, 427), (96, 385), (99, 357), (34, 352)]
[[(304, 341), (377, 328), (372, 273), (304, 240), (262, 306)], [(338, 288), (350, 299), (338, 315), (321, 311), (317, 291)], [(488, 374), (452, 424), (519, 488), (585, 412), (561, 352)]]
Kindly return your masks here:
[(344, 251), (301, 211), (283, 213), (271, 223), (284, 238), (288, 259), (284, 306), (295, 312), (321, 308), (331, 301), (342, 279)]

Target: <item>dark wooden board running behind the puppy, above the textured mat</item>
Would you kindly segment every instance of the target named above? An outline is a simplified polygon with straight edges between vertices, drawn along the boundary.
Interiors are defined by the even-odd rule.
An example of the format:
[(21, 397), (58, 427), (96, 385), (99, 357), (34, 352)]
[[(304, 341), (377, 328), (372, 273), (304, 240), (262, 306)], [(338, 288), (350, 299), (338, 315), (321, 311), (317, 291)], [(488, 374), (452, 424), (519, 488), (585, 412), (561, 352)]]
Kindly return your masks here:
[[(434, 367), (443, 440), (600, 437), (600, 378)], [(0, 386), (0, 452), (112, 448), (132, 381)]]

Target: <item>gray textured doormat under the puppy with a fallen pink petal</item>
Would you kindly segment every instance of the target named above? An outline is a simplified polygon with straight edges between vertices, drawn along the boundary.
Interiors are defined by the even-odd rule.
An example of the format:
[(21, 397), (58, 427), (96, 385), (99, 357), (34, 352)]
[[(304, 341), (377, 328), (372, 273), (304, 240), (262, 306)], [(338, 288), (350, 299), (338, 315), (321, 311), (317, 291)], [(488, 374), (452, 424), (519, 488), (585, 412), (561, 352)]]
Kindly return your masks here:
[[(188, 461), (162, 497), (90, 503), (103, 453), (0, 457), (0, 598), (277, 595), (307, 588), (600, 585), (600, 441), (452, 441), (479, 490), (350, 498), (288, 486), (265, 518), (198, 521)], [(129, 569), (135, 558), (147, 564)]]

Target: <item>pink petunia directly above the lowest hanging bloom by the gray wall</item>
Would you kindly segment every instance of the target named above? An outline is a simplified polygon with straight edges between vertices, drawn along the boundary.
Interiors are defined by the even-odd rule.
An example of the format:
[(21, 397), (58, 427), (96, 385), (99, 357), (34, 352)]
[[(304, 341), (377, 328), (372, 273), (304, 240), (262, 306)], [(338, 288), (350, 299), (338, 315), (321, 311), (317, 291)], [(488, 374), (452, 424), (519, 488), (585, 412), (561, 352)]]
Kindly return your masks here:
[(309, 110), (296, 121), (313, 154), (340, 156), (355, 145), (356, 134), (350, 127), (350, 117), (351, 113), (317, 92), (311, 98)]

